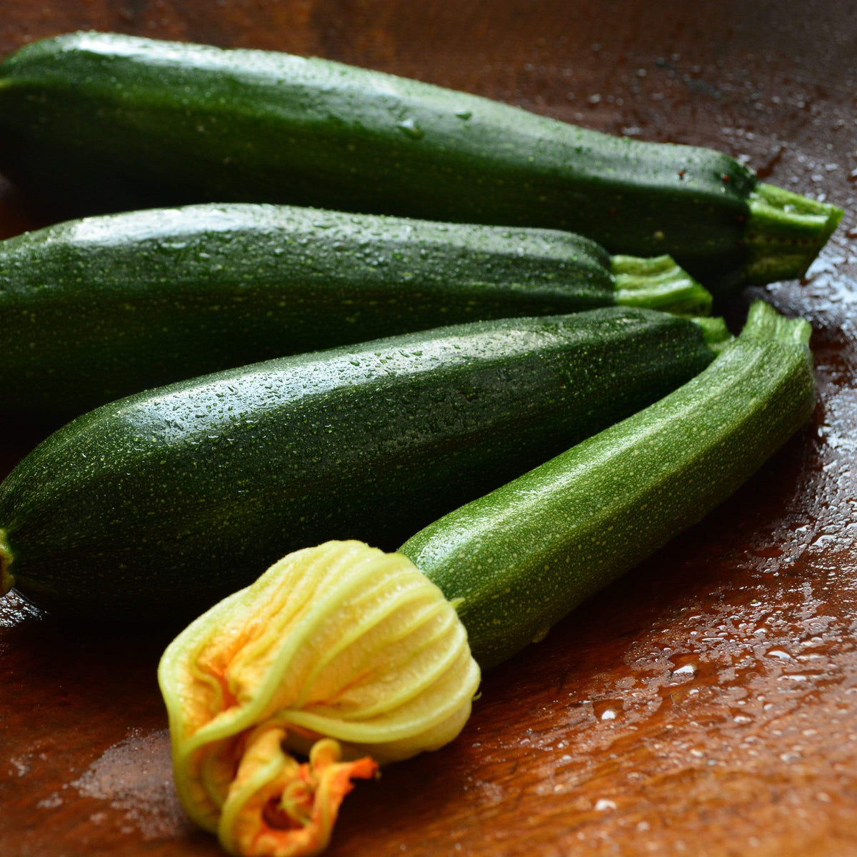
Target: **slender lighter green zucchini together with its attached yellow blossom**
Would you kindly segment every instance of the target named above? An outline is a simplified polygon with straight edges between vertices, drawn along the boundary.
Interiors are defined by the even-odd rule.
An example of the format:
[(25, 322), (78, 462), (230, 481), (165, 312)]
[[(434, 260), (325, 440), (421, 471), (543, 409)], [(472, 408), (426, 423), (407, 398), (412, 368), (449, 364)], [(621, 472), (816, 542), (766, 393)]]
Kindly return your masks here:
[[(298, 551), (196, 620), (159, 669), (191, 818), (232, 854), (323, 848), (352, 776), (464, 727), (476, 662), (543, 638), (800, 428), (815, 403), (810, 332), (756, 303), (692, 381), (440, 518), (401, 553)], [(283, 749), (314, 741), (309, 767)], [(333, 762), (342, 750), (367, 755)]]

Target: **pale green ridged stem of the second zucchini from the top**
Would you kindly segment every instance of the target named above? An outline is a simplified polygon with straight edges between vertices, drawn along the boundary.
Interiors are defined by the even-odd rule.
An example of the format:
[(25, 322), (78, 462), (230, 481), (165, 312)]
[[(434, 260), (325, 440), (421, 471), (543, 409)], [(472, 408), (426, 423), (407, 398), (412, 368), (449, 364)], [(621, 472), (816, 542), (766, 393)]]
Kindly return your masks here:
[(710, 291), (671, 256), (611, 256), (610, 273), (620, 306), (659, 309), (675, 315), (710, 315)]

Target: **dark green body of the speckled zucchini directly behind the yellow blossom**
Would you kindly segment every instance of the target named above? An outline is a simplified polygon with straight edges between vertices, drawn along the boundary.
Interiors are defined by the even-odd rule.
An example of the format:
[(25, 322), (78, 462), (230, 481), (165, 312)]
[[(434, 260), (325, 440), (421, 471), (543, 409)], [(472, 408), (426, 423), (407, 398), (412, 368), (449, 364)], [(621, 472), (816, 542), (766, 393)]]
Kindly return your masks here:
[(14, 582), (68, 614), (187, 618), (306, 544), (394, 548), (712, 356), (693, 321), (608, 308), (140, 393), (68, 423), (0, 486), (0, 591)]

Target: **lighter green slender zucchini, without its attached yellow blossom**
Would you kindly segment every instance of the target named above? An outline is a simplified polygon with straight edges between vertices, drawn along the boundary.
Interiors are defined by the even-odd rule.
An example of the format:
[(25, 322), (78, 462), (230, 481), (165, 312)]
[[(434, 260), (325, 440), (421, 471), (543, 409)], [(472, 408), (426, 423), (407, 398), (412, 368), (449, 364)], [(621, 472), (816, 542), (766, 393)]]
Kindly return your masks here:
[(810, 333), (754, 304), (686, 385), (405, 542), (456, 602), (482, 668), (703, 518), (806, 422)]

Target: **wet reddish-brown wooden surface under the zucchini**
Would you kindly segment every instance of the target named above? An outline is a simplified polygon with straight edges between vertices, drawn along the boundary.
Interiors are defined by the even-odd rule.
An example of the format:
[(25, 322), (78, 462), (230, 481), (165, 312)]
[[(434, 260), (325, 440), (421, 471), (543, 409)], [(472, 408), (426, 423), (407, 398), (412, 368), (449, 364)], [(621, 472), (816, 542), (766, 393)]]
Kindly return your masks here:
[[(3, 53), (92, 27), (316, 54), (719, 147), (845, 207), (806, 282), (724, 308), (740, 322), (765, 297), (812, 321), (812, 423), (710, 518), (488, 675), (451, 746), (358, 784), (328, 854), (857, 854), (852, 3), (2, 5)], [(0, 184), (3, 237), (38, 223)], [(0, 423), (0, 470), (44, 431)], [(171, 790), (154, 676), (166, 642), (0, 600), (3, 857), (220, 853)]]

